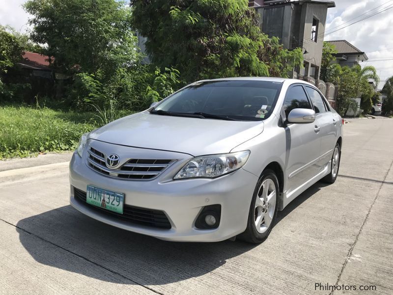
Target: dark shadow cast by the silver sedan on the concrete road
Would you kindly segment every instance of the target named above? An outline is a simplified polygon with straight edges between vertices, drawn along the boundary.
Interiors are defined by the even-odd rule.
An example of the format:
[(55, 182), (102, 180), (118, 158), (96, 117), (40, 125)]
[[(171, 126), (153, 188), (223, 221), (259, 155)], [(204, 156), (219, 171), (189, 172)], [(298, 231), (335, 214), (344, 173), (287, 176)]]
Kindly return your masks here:
[[(322, 186), (313, 185), (279, 212), (278, 222)], [(22, 219), (17, 231), (38, 263), (121, 284), (163, 285), (198, 277), (258, 246), (163, 241), (106, 225), (71, 206)]]

